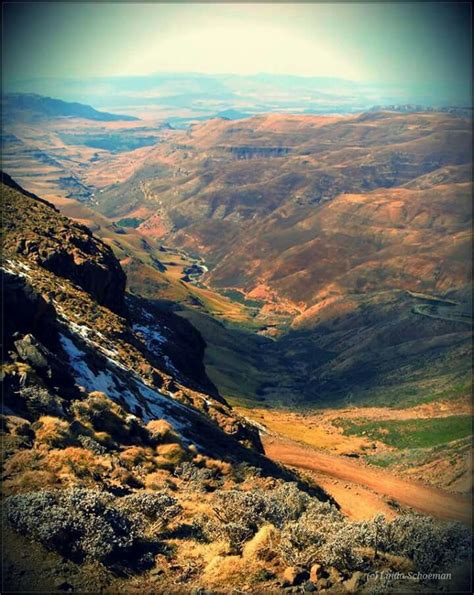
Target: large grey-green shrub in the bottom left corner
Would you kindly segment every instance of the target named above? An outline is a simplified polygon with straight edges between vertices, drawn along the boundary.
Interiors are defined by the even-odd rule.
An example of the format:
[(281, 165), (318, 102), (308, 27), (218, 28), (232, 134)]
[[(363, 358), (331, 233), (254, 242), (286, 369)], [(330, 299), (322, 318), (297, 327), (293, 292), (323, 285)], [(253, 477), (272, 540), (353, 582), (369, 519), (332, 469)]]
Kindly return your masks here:
[[(45, 547), (76, 561), (104, 564), (143, 562), (144, 543), (148, 543), (148, 554), (156, 544), (145, 535), (146, 524), (179, 512), (176, 501), (164, 494), (117, 499), (78, 488), (10, 496), (5, 509), (17, 531)], [(146, 562), (151, 561), (148, 555)]]

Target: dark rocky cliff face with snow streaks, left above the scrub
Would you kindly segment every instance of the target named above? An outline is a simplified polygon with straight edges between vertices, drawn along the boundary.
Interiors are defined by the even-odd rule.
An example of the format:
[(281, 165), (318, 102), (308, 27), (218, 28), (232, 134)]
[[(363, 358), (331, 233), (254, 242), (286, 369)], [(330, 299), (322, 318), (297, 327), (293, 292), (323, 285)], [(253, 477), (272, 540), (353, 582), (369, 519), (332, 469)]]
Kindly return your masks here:
[(145, 421), (164, 417), (203, 449), (212, 448), (210, 437), (225, 444), (221, 430), (259, 449), (256, 431), (207, 378), (199, 333), (147, 300), (126, 298), (125, 274), (105, 244), (9, 182), (2, 185), (7, 413), (37, 417), (38, 403), (21, 396), (25, 387), (46, 390), (63, 415), (71, 399), (98, 390)]

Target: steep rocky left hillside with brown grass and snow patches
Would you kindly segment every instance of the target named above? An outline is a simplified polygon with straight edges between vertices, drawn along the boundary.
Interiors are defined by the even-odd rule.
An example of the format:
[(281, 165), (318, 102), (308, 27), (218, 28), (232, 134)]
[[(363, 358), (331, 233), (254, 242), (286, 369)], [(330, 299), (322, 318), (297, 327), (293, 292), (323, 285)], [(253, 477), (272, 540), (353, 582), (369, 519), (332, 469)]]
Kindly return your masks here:
[[(236, 435), (247, 432), (251, 440), (252, 432), (232, 418), (206, 377), (204, 344), (191, 325), (163, 315), (152, 303), (126, 297), (119, 263), (87, 228), (9, 186), (2, 186), (2, 194), (7, 350), (15, 348), (18, 332), (27, 336), (27, 344), (36, 345), (37, 329), (44, 349), (53, 355), (57, 350), (56, 358), (69, 362), (71, 378), (84, 388), (102, 386), (123, 406), (148, 418), (155, 398), (165, 405), (169, 401), (171, 408), (178, 400), (220, 419)], [(26, 308), (30, 301), (34, 307)], [(41, 350), (41, 345), (31, 349), (34, 354)], [(88, 358), (92, 367), (85, 363)], [(48, 378), (52, 372), (48, 365), (44, 368)], [(127, 382), (127, 375), (133, 380)], [(124, 384), (132, 390), (124, 392)], [(203, 390), (214, 396), (199, 392)]]

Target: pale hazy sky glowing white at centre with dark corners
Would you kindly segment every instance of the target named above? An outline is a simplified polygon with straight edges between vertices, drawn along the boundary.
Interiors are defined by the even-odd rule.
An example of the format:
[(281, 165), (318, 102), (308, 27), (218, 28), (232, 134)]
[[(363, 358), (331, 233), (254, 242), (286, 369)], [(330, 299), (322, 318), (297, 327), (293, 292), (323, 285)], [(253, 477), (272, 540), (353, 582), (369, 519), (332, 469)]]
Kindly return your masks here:
[(470, 78), (468, 3), (15, 3), (4, 82), (258, 72), (440, 85)]

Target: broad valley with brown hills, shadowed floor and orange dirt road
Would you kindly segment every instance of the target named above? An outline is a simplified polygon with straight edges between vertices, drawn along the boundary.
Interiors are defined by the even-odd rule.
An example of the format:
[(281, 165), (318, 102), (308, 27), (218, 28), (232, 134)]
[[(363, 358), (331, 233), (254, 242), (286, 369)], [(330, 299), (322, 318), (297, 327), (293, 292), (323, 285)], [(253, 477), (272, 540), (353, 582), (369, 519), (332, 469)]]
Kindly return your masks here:
[(196, 329), (270, 459), (356, 521), (469, 521), (465, 119), (11, 125), (56, 161), (10, 138), (7, 171), (113, 250), (133, 299)]

